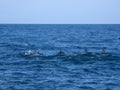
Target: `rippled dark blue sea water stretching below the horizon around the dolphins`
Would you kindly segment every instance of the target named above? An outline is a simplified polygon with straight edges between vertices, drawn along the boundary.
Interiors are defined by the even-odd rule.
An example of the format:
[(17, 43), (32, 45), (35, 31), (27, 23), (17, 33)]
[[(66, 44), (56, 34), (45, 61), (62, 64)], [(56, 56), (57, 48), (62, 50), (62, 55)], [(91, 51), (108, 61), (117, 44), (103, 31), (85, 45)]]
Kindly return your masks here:
[(0, 90), (119, 89), (120, 25), (0, 25)]

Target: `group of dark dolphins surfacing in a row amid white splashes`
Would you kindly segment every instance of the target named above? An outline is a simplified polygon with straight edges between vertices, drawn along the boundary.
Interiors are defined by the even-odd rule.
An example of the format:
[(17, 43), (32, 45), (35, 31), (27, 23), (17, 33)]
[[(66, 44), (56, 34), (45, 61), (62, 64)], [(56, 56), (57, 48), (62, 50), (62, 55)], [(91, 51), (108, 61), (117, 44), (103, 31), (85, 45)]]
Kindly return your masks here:
[[(38, 51), (32, 51), (32, 50), (28, 50), (27, 52), (24, 52), (24, 55), (25, 56), (29, 56), (29, 55), (34, 55), (34, 56), (37, 56), (37, 55), (44, 55), (43, 53), (41, 52), (38, 52)], [(63, 51), (63, 50), (59, 50), (56, 55), (58, 56), (64, 56), (66, 55), (66, 53)], [(75, 55), (75, 54), (74, 54)], [(106, 51), (106, 48), (102, 48), (102, 51), (100, 53), (92, 53), (92, 52), (89, 52), (88, 49), (85, 47), (84, 48), (84, 52), (82, 53), (82, 55), (86, 55), (86, 56), (92, 56), (92, 55), (110, 55), (110, 53), (108, 53)]]

